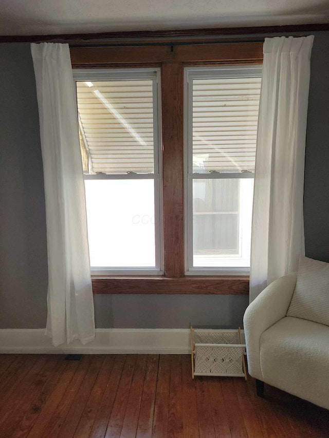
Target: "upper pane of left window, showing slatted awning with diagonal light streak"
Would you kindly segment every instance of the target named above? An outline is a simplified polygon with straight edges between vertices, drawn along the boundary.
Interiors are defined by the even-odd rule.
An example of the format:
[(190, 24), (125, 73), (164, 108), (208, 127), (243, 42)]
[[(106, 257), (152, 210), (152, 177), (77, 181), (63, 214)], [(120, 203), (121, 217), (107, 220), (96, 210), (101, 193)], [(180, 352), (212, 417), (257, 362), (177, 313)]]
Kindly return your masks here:
[(151, 79), (80, 81), (77, 98), (85, 173), (154, 172)]

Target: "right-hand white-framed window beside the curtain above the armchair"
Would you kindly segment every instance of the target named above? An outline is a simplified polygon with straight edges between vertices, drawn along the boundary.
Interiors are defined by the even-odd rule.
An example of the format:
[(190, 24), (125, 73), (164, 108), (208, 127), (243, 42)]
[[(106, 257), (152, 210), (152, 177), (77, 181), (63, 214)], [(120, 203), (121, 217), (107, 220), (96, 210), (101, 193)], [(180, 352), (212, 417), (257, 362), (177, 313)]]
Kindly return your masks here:
[(187, 274), (250, 266), (261, 67), (186, 68)]

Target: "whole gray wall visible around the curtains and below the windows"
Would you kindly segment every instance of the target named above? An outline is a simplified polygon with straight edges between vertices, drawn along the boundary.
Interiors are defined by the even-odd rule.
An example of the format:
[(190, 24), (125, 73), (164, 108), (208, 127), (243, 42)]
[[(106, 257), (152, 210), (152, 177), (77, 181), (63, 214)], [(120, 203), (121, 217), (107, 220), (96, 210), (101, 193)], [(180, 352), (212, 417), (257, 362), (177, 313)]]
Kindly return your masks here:
[[(306, 165), (306, 255), (329, 261), (329, 32), (312, 53)], [(47, 246), (42, 158), (29, 44), (0, 44), (0, 328), (43, 328)], [(237, 327), (248, 297), (96, 295), (98, 328)]]

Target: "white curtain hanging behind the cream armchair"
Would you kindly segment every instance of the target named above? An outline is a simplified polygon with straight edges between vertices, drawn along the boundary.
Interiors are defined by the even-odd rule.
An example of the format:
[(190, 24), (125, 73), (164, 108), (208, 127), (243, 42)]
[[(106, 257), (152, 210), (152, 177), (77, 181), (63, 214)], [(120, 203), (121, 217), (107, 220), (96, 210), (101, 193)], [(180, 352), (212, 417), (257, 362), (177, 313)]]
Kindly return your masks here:
[(297, 271), (304, 249), (305, 138), (314, 36), (266, 38), (251, 238), (250, 301)]

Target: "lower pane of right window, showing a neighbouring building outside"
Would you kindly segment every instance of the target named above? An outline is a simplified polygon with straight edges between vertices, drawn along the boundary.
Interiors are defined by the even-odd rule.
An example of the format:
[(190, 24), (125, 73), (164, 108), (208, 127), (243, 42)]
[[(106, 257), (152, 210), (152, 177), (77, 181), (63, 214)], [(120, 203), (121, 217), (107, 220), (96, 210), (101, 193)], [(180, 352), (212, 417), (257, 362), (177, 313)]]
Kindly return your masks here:
[(193, 180), (193, 267), (250, 266), (253, 179)]

